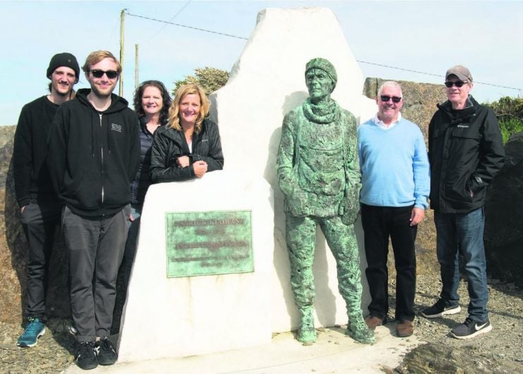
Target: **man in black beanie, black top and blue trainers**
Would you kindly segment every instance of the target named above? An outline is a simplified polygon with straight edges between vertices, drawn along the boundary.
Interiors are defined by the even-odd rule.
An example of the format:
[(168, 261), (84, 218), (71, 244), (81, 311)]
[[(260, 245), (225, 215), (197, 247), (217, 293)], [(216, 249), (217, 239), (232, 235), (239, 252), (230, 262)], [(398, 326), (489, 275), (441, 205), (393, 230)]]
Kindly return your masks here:
[(28, 294), (24, 319), (28, 322), (17, 345), (35, 346), (45, 332), (45, 298), (47, 270), (59, 223), (61, 206), (54, 193), (47, 169), (47, 135), (63, 102), (75, 95), (80, 67), (70, 53), (55, 54), (47, 68), (49, 95), (25, 104), (16, 126), (13, 150), (16, 200), (20, 205), (21, 221), (28, 239)]

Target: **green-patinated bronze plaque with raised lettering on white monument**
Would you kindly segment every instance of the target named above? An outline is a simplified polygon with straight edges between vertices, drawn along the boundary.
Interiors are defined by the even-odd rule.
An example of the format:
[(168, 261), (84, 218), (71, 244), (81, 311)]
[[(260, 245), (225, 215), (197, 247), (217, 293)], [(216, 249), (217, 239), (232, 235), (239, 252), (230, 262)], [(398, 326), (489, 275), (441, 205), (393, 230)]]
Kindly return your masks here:
[(165, 213), (167, 277), (253, 272), (251, 210)]

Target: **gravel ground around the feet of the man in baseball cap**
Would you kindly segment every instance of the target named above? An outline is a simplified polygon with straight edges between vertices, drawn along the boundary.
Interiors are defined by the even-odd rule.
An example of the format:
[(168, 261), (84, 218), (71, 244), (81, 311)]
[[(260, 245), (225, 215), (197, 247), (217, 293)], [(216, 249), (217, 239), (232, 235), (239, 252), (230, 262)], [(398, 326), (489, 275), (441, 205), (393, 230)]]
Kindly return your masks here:
[[(435, 303), (441, 289), (439, 277), (420, 275), (416, 285), (416, 314)], [(493, 330), (472, 339), (454, 339), (449, 332), (467, 318), (467, 282), (460, 282), (458, 294), (462, 311), (444, 318), (416, 317), (414, 334), (428, 345), (408, 354), (400, 373), (523, 373), (523, 290), (514, 284), (489, 279), (487, 308)], [(392, 294), (392, 289), (391, 289)], [(394, 305), (391, 303), (391, 305)], [(416, 358), (416, 353), (421, 356)], [(445, 356), (446, 355), (446, 356)], [(435, 356), (435, 357), (432, 357)], [(437, 356), (440, 356), (438, 358)], [(442, 362), (438, 363), (438, 359)], [(423, 368), (419, 362), (425, 361)], [(433, 360), (434, 362), (431, 362)], [(450, 368), (443, 368), (447, 361)], [(443, 363), (443, 364), (442, 364)], [(438, 366), (439, 365), (439, 366)], [(457, 370), (460, 367), (463, 371)], [(404, 370), (401, 370), (401, 369)], [(450, 371), (446, 371), (450, 369)]]

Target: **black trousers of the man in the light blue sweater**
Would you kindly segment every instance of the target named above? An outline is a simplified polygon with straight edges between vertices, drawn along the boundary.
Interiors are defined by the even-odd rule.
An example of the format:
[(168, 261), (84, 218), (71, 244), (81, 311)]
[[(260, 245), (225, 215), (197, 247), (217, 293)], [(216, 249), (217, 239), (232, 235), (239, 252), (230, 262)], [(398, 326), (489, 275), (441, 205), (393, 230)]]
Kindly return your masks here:
[(389, 236), (396, 265), (396, 320), (414, 320), (416, 293), (417, 226), (410, 226), (412, 206), (375, 207), (361, 205), (361, 223), (365, 237), (368, 267), (366, 276), (371, 291), (368, 311), (385, 318), (389, 309), (387, 255)]

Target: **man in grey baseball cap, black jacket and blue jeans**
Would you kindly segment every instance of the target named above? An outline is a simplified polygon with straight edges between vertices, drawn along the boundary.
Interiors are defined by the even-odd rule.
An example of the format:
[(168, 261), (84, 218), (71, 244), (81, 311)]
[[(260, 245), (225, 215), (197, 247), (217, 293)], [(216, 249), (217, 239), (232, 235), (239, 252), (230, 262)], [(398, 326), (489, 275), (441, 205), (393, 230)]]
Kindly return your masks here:
[(486, 188), (503, 167), (505, 150), (494, 112), (470, 95), (472, 76), (458, 65), (445, 74), (447, 102), (438, 104), (428, 126), (431, 161), (431, 208), (437, 232), (442, 290), (439, 300), (421, 311), (437, 318), (461, 311), (458, 255), (462, 255), (469, 290), (468, 316), (450, 335), (469, 339), (492, 330), (486, 309), (483, 205)]

